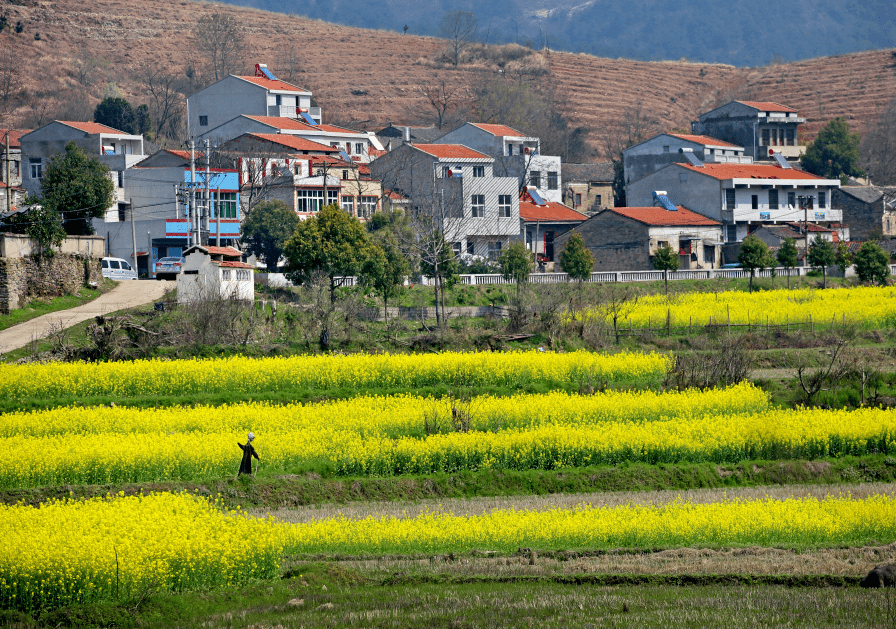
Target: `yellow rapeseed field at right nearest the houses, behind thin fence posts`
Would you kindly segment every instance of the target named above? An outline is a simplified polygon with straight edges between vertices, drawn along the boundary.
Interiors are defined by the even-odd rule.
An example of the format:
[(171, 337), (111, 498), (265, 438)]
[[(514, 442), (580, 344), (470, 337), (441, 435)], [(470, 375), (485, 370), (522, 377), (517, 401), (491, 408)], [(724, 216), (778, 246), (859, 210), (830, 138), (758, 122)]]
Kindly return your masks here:
[[(591, 313), (600, 316), (599, 311)], [(816, 326), (855, 324), (888, 328), (896, 325), (896, 286), (831, 290), (771, 290), (649, 295), (638, 300), (623, 327), (660, 327), (670, 318), (671, 327), (709, 323)]]

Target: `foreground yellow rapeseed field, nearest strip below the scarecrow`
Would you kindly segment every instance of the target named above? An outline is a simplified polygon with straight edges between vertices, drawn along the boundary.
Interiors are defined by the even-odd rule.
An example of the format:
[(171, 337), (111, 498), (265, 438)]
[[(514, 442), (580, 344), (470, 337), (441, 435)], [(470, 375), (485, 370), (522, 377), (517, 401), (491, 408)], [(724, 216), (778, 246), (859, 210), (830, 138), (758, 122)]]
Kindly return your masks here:
[(188, 495), (0, 506), (0, 606), (120, 599), (277, 575), (284, 554), (426, 554), (686, 546), (825, 547), (896, 541), (896, 499), (677, 501), (304, 524), (223, 512)]

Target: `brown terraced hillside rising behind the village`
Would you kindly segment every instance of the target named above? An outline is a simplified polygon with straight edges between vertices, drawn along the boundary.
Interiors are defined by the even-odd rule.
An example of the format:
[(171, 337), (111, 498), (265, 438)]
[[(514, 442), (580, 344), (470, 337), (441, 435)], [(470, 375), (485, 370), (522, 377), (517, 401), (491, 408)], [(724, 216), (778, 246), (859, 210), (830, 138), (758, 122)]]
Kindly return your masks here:
[[(324, 115), (354, 120), (368, 128), (393, 121), (417, 122), (429, 115), (418, 86), (433, 74), (468, 83), (481, 69), (434, 69), (421, 60), (441, 47), (434, 38), (349, 28), (268, 13), (186, 0), (12, 0), (11, 23), (21, 20), (20, 35), (6, 31), (31, 94), (10, 119), (34, 124), (42, 114), (72, 114), (72, 97), (81, 88), (72, 58), (86, 46), (107, 63), (88, 90), (81, 107), (97, 102), (107, 81), (135, 103), (142, 102), (135, 70), (155, 63), (183, 71), (198, 63), (191, 30), (204, 14), (226, 10), (245, 24), (251, 43), (250, 63), (280, 67), (284, 51), (298, 53), (302, 71), (296, 82), (314, 90)], [(40, 41), (34, 34), (40, 34)], [(550, 54), (553, 80), (565, 95), (571, 118), (601, 132), (640, 104), (660, 126), (687, 128), (699, 112), (731, 98), (775, 100), (794, 106), (808, 121), (809, 135), (827, 120), (843, 115), (863, 132), (876, 112), (896, 94), (896, 67), (890, 51), (873, 51), (762, 68), (687, 62), (641, 62), (582, 54)], [(355, 92), (354, 94), (352, 92)], [(366, 92), (366, 93), (365, 93)], [(83, 97), (82, 97), (82, 100)], [(38, 105), (37, 103), (46, 104)], [(39, 111), (36, 111), (39, 110)], [(77, 110), (76, 110), (77, 111)]]

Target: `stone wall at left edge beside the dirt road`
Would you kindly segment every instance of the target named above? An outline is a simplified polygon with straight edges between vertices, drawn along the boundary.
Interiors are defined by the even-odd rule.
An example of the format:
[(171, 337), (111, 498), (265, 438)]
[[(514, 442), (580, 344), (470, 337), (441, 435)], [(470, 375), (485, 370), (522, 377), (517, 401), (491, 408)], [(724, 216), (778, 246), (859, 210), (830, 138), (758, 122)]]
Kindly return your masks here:
[[(60, 247), (62, 252), (54, 252), (52, 256), (35, 255), (31, 249), (21, 246), (21, 236), (4, 234), (3, 249), (9, 253), (0, 257), (0, 313), (9, 314), (11, 310), (21, 308), (29, 299), (35, 297), (58, 297), (76, 292), (89, 284), (102, 280), (101, 258), (103, 256), (103, 239), (96, 237), (75, 237), (66, 239)], [(84, 247), (82, 240), (90, 238), (90, 254), (66, 253), (80, 251)], [(71, 240), (71, 242), (70, 242)], [(98, 240), (96, 243), (94, 240)], [(14, 245), (14, 246), (10, 246)], [(29, 255), (21, 255), (27, 251)]]

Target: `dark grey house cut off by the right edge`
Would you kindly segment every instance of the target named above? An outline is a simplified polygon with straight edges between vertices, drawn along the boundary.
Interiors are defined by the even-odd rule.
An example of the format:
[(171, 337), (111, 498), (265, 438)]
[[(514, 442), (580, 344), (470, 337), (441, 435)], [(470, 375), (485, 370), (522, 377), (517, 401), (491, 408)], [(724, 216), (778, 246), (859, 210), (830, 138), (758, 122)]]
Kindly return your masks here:
[(849, 225), (853, 238), (896, 236), (896, 187), (841, 186), (833, 191), (831, 199), (842, 208), (843, 222)]

